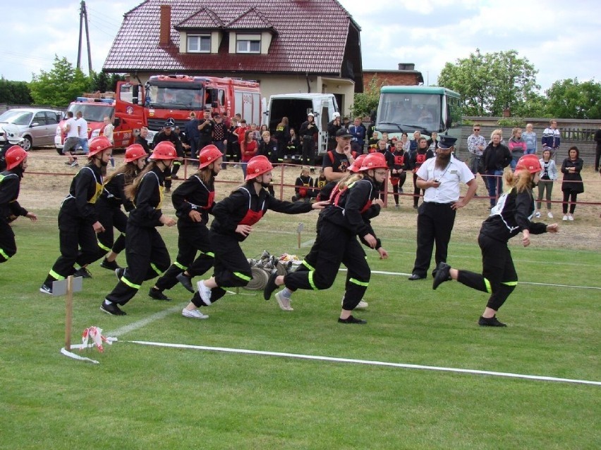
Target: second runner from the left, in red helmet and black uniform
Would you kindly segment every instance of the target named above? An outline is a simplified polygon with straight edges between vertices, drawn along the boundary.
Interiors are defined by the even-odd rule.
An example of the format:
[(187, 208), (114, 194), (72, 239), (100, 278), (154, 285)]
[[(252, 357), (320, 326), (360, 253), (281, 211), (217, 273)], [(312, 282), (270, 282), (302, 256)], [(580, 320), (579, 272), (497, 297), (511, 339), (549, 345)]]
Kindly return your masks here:
[[(104, 231), (95, 203), (102, 194), (102, 170), (113, 154), (113, 145), (104, 136), (90, 139), (87, 165), (73, 177), (69, 194), (59, 211), (59, 242), (61, 256), (56, 260), (40, 287), (40, 292), (52, 294), (52, 282), (69, 275), (87, 275), (85, 266), (102, 258), (96, 233)], [(80, 269), (75, 270), (75, 263)], [(90, 275), (87, 275), (88, 277)]]

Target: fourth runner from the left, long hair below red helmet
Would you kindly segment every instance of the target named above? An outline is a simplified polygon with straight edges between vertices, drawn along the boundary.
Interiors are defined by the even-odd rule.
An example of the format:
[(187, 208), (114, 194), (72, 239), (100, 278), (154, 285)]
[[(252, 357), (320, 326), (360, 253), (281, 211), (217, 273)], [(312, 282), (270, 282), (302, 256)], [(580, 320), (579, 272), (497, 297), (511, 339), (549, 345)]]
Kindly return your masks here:
[(119, 306), (135, 296), (144, 280), (161, 275), (171, 265), (169, 251), (157, 227), (176, 224), (163, 213), (162, 204), (165, 176), (171, 173), (171, 164), (177, 157), (174, 144), (159, 142), (148, 157), (150, 163), (126, 187), (126, 195), (135, 205), (126, 227), (127, 268), (115, 270), (119, 282), (100, 305), (104, 313), (125, 315)]

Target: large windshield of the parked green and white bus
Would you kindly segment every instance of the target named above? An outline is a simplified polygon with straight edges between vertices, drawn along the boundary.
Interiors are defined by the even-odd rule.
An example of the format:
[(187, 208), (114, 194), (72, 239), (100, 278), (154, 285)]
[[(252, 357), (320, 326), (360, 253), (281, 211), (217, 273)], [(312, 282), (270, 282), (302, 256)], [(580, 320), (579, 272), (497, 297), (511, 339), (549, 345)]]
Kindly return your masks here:
[(377, 130), (380, 132), (413, 132), (426, 135), (441, 132), (442, 96), (439, 94), (382, 92), (377, 110)]

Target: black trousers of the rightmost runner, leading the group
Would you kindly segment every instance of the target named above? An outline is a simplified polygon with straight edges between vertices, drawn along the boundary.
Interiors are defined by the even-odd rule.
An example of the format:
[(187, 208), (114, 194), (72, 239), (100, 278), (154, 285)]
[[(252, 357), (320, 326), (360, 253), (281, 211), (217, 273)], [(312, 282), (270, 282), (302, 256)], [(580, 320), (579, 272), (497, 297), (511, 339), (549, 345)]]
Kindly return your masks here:
[(514, 259), (506, 242), (480, 234), (478, 245), (482, 251), (482, 275), (459, 270), (457, 281), (472, 289), (488, 292), (490, 297), (486, 306), (499, 311), (518, 284)]

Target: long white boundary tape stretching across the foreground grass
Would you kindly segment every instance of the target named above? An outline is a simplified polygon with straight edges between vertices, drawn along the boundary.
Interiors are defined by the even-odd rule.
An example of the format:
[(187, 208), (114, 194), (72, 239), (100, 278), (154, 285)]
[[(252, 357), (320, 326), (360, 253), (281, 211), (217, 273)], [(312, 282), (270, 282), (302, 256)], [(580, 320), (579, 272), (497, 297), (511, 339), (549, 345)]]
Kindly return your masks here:
[(526, 380), (553, 381), (553, 382), (564, 382), (564, 383), (576, 383), (576, 384), (580, 384), (580, 385), (601, 386), (601, 381), (573, 380), (571, 378), (545, 377), (542, 375), (524, 375), (521, 373), (494, 372), (491, 370), (460, 369), (460, 368), (450, 368), (450, 367), (438, 367), (436, 365), (387, 363), (385, 361), (370, 361), (370, 360), (365, 360), (365, 359), (333, 358), (332, 356), (303, 355), (303, 354), (293, 354), (293, 353), (282, 353), (279, 351), (229, 349), (227, 347), (210, 347), (210, 346), (204, 346), (204, 345), (169, 344), (169, 343), (165, 343), (165, 342), (149, 342), (149, 341), (121, 341), (121, 342), (130, 342), (132, 344), (141, 344), (141, 345), (150, 345), (150, 346), (159, 346), (159, 347), (169, 347), (172, 349), (224, 351), (227, 353), (237, 353), (237, 354), (278, 356), (280, 358), (298, 358), (298, 359), (310, 359), (310, 360), (317, 360), (317, 361), (332, 361), (334, 363), (384, 365), (387, 367), (397, 367), (397, 368), (406, 368), (406, 369), (437, 370), (437, 371), (441, 371), (441, 372), (470, 373), (473, 375), (494, 375), (497, 377), (525, 378)]

